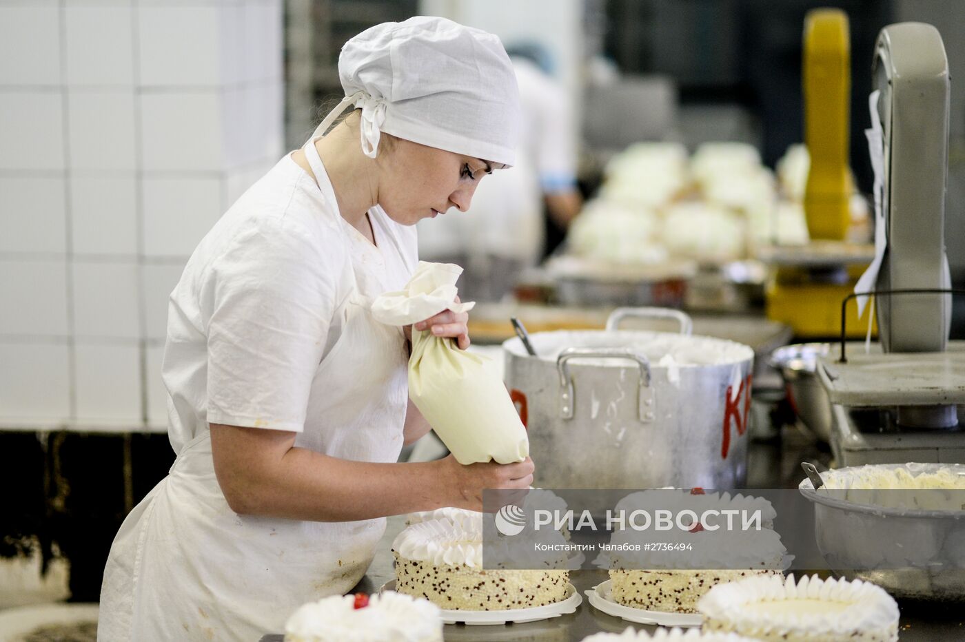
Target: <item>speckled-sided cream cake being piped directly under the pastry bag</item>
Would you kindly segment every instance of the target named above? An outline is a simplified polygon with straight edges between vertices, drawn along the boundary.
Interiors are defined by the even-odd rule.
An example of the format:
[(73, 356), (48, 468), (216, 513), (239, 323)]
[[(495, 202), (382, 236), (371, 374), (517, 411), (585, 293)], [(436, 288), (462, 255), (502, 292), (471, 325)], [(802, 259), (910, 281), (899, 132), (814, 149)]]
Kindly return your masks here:
[[(559, 553), (537, 559), (532, 570), (483, 569), (482, 514), (458, 519), (413, 523), (399, 534), (392, 544), (396, 591), (445, 609), (472, 611), (531, 608), (565, 599), (569, 574), (558, 570), (565, 568), (565, 555), (562, 560)], [(546, 537), (565, 542), (557, 531)], [(524, 540), (532, 549), (532, 541)], [(511, 546), (505, 541), (490, 544)]]

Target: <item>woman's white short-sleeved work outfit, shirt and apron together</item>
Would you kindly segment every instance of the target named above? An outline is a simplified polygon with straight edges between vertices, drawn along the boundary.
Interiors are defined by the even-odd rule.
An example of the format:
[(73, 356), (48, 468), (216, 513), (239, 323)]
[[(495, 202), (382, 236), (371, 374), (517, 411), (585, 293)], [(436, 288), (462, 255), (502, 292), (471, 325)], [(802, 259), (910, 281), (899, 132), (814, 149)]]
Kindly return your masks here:
[[(385, 520), (234, 514), (208, 423), (294, 431), (332, 457), (395, 462), (408, 399), (400, 328), (372, 300), (418, 263), (414, 227), (369, 211), (376, 246), (286, 156), (208, 232), (171, 295), (163, 379), (178, 459), (124, 521), (104, 571), (100, 640), (248, 639), (365, 574)], [(320, 187), (319, 187), (320, 185)]]

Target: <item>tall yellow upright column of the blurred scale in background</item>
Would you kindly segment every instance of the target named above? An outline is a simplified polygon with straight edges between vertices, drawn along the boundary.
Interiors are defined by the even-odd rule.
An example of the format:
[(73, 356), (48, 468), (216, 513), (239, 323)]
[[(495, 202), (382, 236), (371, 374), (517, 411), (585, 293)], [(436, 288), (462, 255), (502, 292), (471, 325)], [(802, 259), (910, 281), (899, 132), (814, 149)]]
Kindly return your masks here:
[(808, 13), (804, 23), (804, 129), (811, 171), (804, 211), (812, 239), (840, 241), (850, 223), (850, 49), (846, 13), (840, 9)]

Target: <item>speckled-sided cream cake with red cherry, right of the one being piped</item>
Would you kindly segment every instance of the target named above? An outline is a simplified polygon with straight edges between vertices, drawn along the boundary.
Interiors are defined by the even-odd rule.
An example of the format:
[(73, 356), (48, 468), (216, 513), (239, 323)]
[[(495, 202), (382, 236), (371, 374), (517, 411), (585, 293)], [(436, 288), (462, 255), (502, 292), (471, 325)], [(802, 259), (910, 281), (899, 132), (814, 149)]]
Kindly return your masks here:
[(648, 611), (696, 613), (698, 600), (718, 584), (751, 576), (784, 576), (789, 558), (781, 536), (773, 530), (777, 513), (769, 501), (729, 493), (705, 495), (701, 489), (667, 493), (664, 489), (627, 495), (615, 512), (652, 511), (673, 504), (703, 515), (705, 510), (727, 507), (757, 513), (760, 529), (716, 532), (708, 543), (708, 533), (696, 524), (690, 531), (674, 531), (669, 537), (688, 548), (650, 552), (645, 547), (653, 538), (651, 531), (616, 530), (610, 539), (616, 550), (603, 552), (595, 560), (597, 566), (609, 569), (614, 602)]

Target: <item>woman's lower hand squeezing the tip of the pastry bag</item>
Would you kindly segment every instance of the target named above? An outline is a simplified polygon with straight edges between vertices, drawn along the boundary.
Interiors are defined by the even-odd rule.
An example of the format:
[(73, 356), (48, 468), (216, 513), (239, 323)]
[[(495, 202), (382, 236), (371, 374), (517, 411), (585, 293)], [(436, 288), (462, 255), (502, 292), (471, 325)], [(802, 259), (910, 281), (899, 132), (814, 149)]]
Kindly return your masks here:
[(437, 462), (441, 468), (442, 488), (450, 489), (447, 506), (483, 510), (483, 490), (526, 490), (533, 485), (533, 460), (527, 457), (517, 464), (470, 464), (463, 466), (449, 455)]

